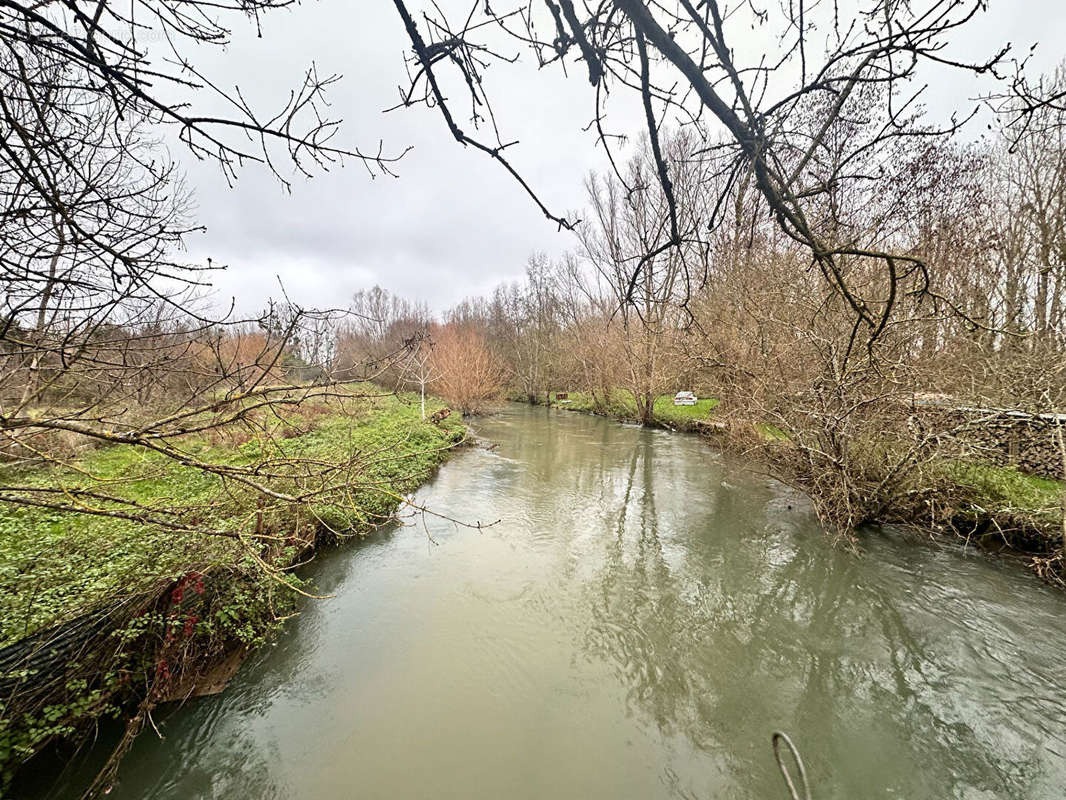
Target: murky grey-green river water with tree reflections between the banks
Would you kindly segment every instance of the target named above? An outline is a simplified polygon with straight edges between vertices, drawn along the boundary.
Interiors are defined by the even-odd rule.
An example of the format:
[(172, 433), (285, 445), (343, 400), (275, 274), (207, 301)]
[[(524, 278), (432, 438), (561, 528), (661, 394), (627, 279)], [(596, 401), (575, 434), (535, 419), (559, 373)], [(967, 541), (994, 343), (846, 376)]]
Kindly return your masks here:
[(520, 406), (477, 423), (427, 519), (332, 551), (230, 689), (157, 719), (112, 798), (1066, 794), (1066, 597), (874, 535), (695, 437)]

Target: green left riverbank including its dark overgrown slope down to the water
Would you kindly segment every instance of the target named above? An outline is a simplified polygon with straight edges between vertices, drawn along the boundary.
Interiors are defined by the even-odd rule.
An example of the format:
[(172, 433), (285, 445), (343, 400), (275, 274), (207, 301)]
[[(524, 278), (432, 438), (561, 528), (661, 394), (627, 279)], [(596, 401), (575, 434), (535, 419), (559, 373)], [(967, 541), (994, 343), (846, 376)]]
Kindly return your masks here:
[[(206, 666), (263, 642), (294, 609), (302, 585), (289, 567), (324, 538), (388, 521), (464, 434), (458, 415), (423, 421), (413, 398), (341, 397), (181, 443), (193, 458), (265, 463), (262, 482), (311, 498), (302, 503), (264, 502), (239, 483), (124, 446), (60, 471), (0, 469), (4, 484), (107, 487), (215, 531), (0, 505), (4, 772), (86, 721), (118, 714), (120, 701), (191, 691)], [(338, 466), (310, 485), (309, 465), (318, 464)], [(66, 647), (68, 638), (76, 646)]]

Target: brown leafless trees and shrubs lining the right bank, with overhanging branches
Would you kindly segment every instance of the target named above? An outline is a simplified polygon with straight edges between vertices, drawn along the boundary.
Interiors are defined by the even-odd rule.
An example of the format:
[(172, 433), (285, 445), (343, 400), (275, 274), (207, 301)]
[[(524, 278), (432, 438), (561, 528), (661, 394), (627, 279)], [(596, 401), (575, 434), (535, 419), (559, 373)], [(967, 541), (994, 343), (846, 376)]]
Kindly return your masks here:
[[(967, 494), (956, 462), (1066, 477), (1063, 67), (1033, 75), (1006, 43), (946, 58), (976, 0), (546, 6), (464, 23), (397, 3), (419, 66), (402, 105), (437, 110), (580, 242), (453, 313), (516, 390), (605, 407), (625, 389), (644, 423), (661, 394), (718, 398), (725, 439), (846, 537), (898, 517), (972, 534), (973, 503), (949, 499)], [(455, 122), (491, 109), (485, 76), (512, 47), (595, 86), (581, 124), (609, 166), (583, 213), (546, 205), (495, 114), (499, 146)], [(988, 84), (976, 108), (926, 109), (939, 79)], [(635, 146), (608, 97), (643, 111)], [(1061, 576), (1060, 511), (1054, 529), (978, 525)]]

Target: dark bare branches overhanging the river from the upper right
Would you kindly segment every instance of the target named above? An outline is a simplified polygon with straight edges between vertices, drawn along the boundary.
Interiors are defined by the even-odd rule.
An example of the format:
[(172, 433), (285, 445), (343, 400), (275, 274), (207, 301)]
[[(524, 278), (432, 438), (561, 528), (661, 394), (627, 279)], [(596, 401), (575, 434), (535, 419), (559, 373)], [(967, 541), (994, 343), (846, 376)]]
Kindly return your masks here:
[[(926, 76), (987, 75), (989, 92), (1025, 97), (1018, 111), (1027, 116), (1062, 97), (1030, 86), (1021, 73), (1013, 91), (1001, 86), (995, 79), (1013, 64), (1006, 46), (968, 58), (953, 53), (952, 42), (984, 11), (983, 0), (474, 2), (454, 17), (436, 3), (393, 2), (413, 50), (402, 105), (437, 108), (456, 141), (499, 161), (563, 227), (577, 220), (547, 208), (508, 160), (517, 144), (511, 137), (521, 131), (512, 132), (492, 113), (486, 74), (512, 61), (517, 49), (532, 53), (539, 68), (558, 64), (587, 79), (594, 100), (583, 122), (595, 130), (614, 177), (630, 193), (657, 183), (663, 204), (655, 235), (626, 254), (628, 302), (644, 271), (672, 259), (680, 258), (688, 281), (698, 284), (707, 263), (687, 251), (709, 240), (729, 213), (734, 190), (749, 185), (763, 213), (804, 246), (851, 307), (858, 340), (876, 339), (905, 297), (960, 313), (923, 258), (889, 230), (857, 229), (838, 202), (845, 192), (902, 199), (900, 154), (944, 141), (965, 123), (954, 116), (940, 125), (923, 121)], [(746, 45), (753, 36), (760, 47)], [(742, 39), (745, 46), (737, 49)], [(617, 156), (625, 137), (612, 131), (608, 114), (610, 100), (626, 93), (640, 98), (646, 116), (650, 163), (636, 176)], [(469, 132), (464, 117), (487, 132)], [(694, 131), (687, 153), (666, 151), (668, 124)], [(698, 205), (680, 196), (679, 162), (690, 160), (708, 162)]]

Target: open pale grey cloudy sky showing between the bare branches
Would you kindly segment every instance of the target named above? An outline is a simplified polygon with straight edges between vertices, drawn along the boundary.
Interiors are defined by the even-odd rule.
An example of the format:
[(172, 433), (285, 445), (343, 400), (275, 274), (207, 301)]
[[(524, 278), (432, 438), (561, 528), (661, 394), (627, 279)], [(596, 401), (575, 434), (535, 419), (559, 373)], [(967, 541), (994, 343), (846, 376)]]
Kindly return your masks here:
[[(468, 11), (470, 2), (441, 5)], [(503, 2), (494, 0), (497, 11)], [(229, 46), (191, 53), (215, 82), (239, 85), (253, 107), (272, 109), (313, 62), (320, 75), (343, 76), (329, 91), (329, 112), (343, 121), (338, 144), (411, 149), (395, 166), (399, 178), (371, 179), (353, 160), (312, 179), (294, 177), (287, 191), (257, 165), (229, 186), (216, 166), (172, 147), (194, 190), (196, 219), (207, 228), (190, 238), (187, 256), (226, 267), (214, 273), (220, 305), (235, 298), (239, 310), (254, 313), (284, 285), (302, 305), (344, 307), (355, 291), (379, 285), (443, 310), (520, 277), (533, 252), (558, 255), (576, 245), (574, 235), (546, 220), (498, 164), (456, 144), (439, 112), (384, 113), (406, 79), (407, 43), (389, 0), (304, 0), (264, 15), (261, 37), (251, 23), (235, 22)], [(976, 59), (1007, 41), (1019, 54), (1040, 43), (1032, 65), (1050, 68), (1063, 55), (1056, 43), (1066, 41), (1066, 3), (991, 0), (952, 54)], [(733, 47), (756, 54), (758, 33), (739, 30)], [(519, 52), (515, 46), (508, 51)], [(585, 177), (605, 167), (594, 133), (582, 130), (592, 118), (593, 91), (580, 64), (567, 80), (558, 67), (537, 70), (531, 61), (522, 52), (516, 65), (488, 73), (501, 131), (518, 140), (510, 158), (551, 210), (579, 212)], [(957, 74), (928, 80), (931, 112), (947, 116), (949, 109), (973, 107), (979, 90), (972, 80)], [(194, 100), (201, 109), (213, 105), (203, 92)], [(613, 102), (613, 132), (639, 132), (643, 117), (634, 103)], [(469, 127), (462, 116), (459, 124)]]

